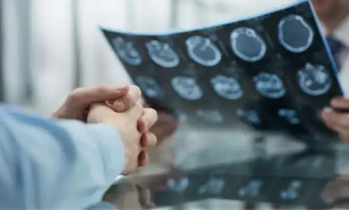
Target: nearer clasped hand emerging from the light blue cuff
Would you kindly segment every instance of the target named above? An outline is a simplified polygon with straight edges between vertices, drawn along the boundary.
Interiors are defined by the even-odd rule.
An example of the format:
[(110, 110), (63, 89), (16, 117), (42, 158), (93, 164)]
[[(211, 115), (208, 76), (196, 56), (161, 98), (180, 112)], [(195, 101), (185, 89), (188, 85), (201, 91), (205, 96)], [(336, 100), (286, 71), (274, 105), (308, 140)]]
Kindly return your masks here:
[[(87, 118), (88, 123), (106, 123), (118, 130), (125, 148), (123, 175), (131, 174), (139, 166), (148, 164), (145, 150), (157, 144), (157, 137), (148, 130), (156, 121), (157, 112), (144, 108), (140, 103), (125, 112), (115, 112), (106, 103), (95, 103), (91, 105)], [(144, 128), (139, 128), (140, 125)]]

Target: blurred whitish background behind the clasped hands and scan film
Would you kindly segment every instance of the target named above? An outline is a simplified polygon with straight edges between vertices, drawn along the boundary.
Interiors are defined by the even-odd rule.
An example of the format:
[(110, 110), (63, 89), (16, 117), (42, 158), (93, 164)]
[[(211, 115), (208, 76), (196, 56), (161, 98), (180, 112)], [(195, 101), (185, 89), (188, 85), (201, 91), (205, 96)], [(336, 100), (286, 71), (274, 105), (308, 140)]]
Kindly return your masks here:
[(76, 87), (130, 79), (98, 26), (169, 31), (296, 0), (1, 0), (0, 99), (49, 116)]

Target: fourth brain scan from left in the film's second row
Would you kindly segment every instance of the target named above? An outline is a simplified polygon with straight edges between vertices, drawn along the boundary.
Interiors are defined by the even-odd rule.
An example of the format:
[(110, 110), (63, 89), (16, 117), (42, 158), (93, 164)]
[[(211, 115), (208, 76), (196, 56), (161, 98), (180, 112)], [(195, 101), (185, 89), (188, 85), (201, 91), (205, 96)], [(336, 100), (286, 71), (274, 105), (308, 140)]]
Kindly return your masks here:
[(259, 73), (254, 77), (254, 83), (258, 93), (266, 98), (281, 98), (286, 89), (280, 77), (270, 73)]

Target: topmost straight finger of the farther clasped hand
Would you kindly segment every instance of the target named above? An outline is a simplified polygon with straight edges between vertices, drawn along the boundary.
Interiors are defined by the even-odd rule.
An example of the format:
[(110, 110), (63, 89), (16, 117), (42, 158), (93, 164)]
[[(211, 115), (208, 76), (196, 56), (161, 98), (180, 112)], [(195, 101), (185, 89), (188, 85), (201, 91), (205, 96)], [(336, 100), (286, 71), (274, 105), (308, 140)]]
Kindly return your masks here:
[(127, 95), (130, 87), (98, 86), (78, 88), (70, 93), (68, 102), (75, 105), (91, 105), (106, 100), (116, 100)]

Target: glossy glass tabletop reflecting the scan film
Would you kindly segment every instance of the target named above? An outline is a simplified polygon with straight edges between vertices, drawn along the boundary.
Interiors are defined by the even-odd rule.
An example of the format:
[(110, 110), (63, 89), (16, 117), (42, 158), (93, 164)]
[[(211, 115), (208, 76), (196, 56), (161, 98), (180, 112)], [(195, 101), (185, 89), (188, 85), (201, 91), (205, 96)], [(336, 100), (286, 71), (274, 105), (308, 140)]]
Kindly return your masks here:
[(235, 129), (180, 130), (104, 201), (117, 209), (349, 209), (348, 145), (314, 149)]

